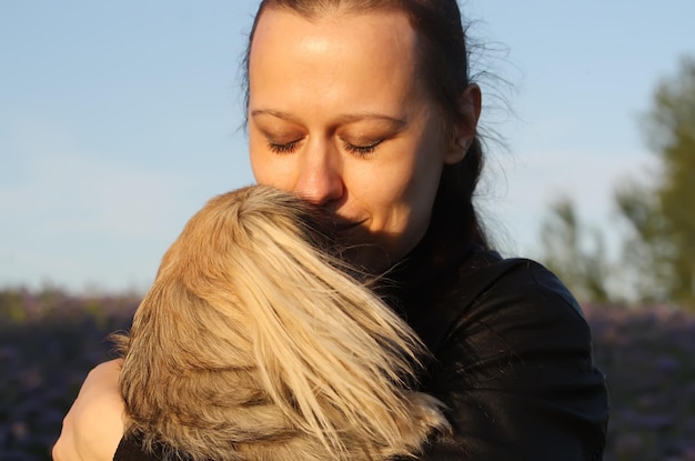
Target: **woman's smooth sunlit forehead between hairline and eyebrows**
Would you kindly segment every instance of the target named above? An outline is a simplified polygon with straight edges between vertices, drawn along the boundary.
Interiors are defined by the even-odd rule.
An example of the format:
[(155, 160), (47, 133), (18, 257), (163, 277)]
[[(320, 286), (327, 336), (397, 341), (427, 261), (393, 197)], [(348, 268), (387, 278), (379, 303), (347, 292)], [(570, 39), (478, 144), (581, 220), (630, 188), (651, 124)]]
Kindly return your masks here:
[(271, 86), (288, 91), (290, 83), (292, 90), (322, 92), (346, 87), (412, 92), (420, 80), (417, 48), (416, 32), (399, 11), (304, 18), (288, 9), (268, 9), (258, 21), (249, 56), (251, 96)]

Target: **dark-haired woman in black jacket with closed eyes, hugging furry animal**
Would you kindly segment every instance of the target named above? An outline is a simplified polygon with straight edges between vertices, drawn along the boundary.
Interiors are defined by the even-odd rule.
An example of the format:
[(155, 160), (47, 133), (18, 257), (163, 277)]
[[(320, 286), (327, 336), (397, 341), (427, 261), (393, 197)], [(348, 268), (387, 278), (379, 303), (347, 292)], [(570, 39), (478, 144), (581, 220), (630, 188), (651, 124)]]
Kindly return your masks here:
[[(600, 460), (607, 394), (576, 301), (479, 224), (481, 93), (455, 0), (264, 1), (246, 63), (258, 182), (334, 213), (353, 262), (391, 268), (382, 293), (435, 357), (422, 390), (461, 458)], [(56, 460), (111, 459), (119, 367), (90, 374)]]

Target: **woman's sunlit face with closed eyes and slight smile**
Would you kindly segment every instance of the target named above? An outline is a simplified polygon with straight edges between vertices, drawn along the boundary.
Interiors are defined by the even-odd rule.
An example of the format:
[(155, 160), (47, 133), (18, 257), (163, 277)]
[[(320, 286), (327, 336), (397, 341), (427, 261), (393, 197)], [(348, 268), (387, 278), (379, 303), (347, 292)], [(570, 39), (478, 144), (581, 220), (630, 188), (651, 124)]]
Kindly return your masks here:
[[(442, 168), (463, 158), (397, 12), (308, 20), (265, 10), (249, 61), (251, 167), (336, 216), (336, 238), (375, 270), (423, 237)], [(453, 137), (452, 137), (453, 138)]]

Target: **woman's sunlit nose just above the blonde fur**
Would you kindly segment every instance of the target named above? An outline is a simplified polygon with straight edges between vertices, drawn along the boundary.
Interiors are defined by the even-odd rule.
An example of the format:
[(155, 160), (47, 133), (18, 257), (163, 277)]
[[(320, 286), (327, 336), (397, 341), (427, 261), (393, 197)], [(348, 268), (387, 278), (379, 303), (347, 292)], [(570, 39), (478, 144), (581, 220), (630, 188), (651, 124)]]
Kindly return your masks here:
[(309, 147), (299, 173), (294, 191), (312, 203), (324, 206), (345, 192), (339, 154), (325, 146)]

